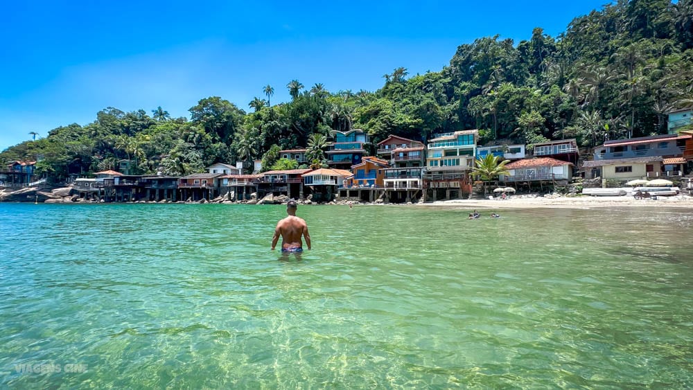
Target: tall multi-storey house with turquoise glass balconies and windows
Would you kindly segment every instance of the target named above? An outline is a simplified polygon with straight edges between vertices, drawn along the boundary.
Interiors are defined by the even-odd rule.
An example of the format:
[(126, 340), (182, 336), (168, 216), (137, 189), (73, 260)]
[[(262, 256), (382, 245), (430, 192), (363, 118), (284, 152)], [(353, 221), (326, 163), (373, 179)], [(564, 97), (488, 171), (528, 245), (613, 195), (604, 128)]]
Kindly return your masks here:
[(437, 134), (426, 146), (424, 196), (432, 200), (462, 198), (471, 193), (469, 172), (474, 166), (478, 130)]

